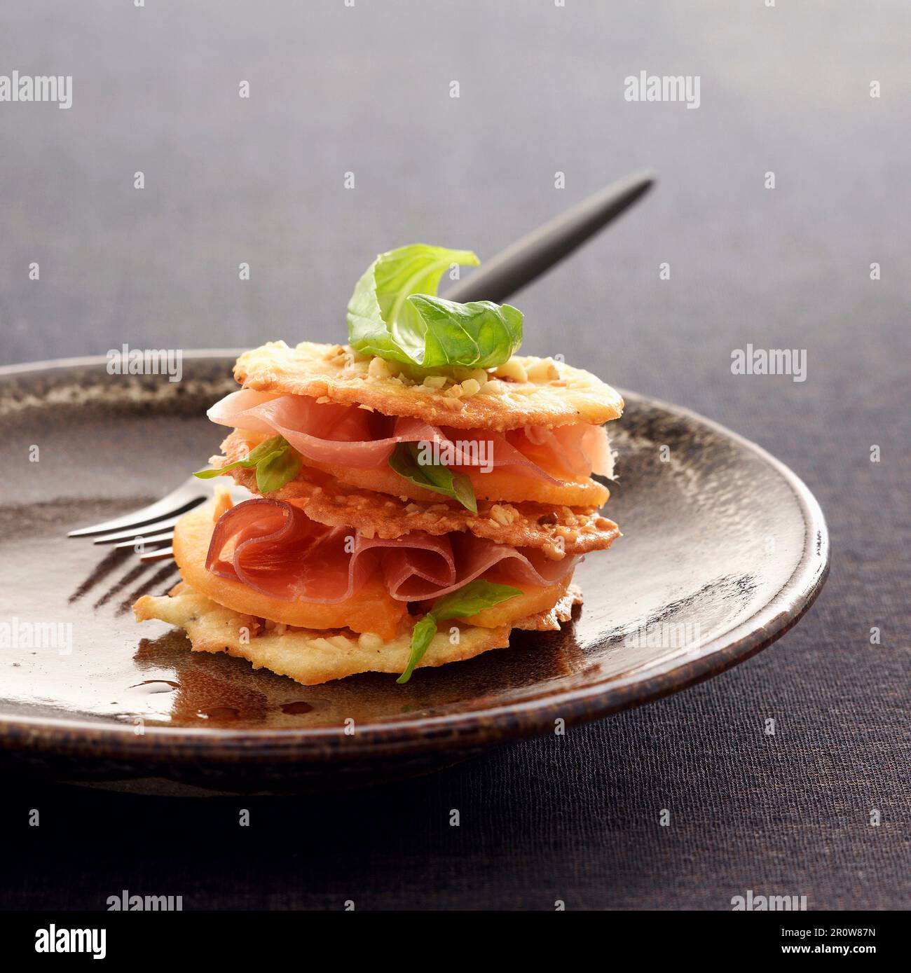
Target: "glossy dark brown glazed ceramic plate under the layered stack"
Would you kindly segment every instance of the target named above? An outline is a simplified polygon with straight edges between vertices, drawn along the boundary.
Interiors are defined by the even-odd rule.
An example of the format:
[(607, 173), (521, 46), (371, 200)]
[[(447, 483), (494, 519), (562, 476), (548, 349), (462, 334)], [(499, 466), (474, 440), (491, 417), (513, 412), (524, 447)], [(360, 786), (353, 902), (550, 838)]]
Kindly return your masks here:
[[(585, 605), (564, 631), (404, 687), (372, 674), (306, 688), (191, 653), (180, 631), (129, 612), (174, 583), (171, 561), (65, 534), (164, 495), (216, 451), (204, 410), (234, 387), (234, 358), (187, 353), (180, 382), (111, 376), (103, 358), (0, 370), (5, 763), (225, 790), (419, 773), (721, 672), (794, 625), (825, 580), (825, 523), (793, 473), (707, 419), (624, 393), (607, 507), (624, 537), (580, 567)], [(50, 624), (64, 647), (71, 631), (70, 653)]]

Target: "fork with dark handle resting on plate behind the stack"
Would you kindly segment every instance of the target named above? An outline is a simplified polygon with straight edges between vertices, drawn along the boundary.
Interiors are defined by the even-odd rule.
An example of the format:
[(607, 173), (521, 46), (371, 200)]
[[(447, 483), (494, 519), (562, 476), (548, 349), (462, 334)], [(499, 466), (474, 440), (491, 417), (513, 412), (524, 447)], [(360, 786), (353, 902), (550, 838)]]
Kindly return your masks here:
[[(583, 199), (572, 209), (523, 236), (488, 261), (484, 268), (476, 270), (443, 296), (462, 304), (469, 301), (504, 301), (612, 223), (639, 197), (647, 193), (654, 181), (654, 173), (646, 170), (611, 183), (594, 196)], [(238, 497), (248, 499), (252, 495), (240, 486), (233, 486), (231, 492), (235, 502)], [(145, 545), (171, 540), (174, 536), (174, 524), (180, 517), (213, 495), (213, 486), (207, 481), (190, 477), (167, 496), (147, 507), (111, 521), (71, 530), (67, 536), (88, 537), (101, 534), (95, 538), (95, 544), (134, 548), (140, 560), (172, 558), (174, 552), (169, 545), (153, 548), (151, 551), (146, 551)]]

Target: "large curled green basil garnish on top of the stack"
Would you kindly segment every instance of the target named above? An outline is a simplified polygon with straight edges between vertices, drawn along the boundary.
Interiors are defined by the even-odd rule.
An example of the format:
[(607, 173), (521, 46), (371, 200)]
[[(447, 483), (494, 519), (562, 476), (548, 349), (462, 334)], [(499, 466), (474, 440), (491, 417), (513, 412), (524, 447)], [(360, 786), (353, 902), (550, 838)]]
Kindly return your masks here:
[(389, 250), (363, 273), (348, 302), (348, 342), (397, 362), (415, 377), (434, 370), (492, 368), (522, 343), (522, 311), (490, 301), (436, 297), (452, 264), (477, 266), (470, 250), (415, 243)]

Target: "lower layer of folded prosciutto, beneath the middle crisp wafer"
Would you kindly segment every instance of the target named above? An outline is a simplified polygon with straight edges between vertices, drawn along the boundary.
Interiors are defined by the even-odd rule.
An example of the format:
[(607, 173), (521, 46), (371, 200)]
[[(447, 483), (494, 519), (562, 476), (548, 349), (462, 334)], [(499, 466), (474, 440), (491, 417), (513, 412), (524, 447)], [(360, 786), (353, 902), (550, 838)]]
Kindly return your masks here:
[(357, 593), (382, 572), (389, 595), (422, 601), (447, 595), (486, 574), (523, 585), (561, 581), (579, 558), (547, 559), (540, 551), (475, 537), (432, 537), (414, 531), (394, 540), (353, 535), (345, 527), (310, 521), (290, 503), (258, 497), (219, 518), (205, 566), (261, 595), (284, 601), (335, 603)]

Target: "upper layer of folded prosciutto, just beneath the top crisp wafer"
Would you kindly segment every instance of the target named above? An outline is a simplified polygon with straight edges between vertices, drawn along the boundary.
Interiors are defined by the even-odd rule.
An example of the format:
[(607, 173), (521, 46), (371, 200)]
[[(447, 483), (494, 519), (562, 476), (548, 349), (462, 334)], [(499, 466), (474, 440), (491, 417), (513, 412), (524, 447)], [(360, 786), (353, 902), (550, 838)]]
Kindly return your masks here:
[[(552, 484), (555, 478), (541, 463), (584, 479), (606, 450), (604, 430), (575, 423), (553, 431), (527, 427), (502, 434), (487, 429), (452, 429), (407, 416), (388, 416), (357, 406), (317, 402), (304, 395), (273, 395), (241, 389), (208, 411), (219, 425), (283, 436), (301, 455), (316, 463), (355, 469), (378, 469), (398, 443), (436, 443), (452, 453), (449, 466), (513, 467), (516, 472)], [(492, 455), (480, 449), (492, 444)], [(597, 472), (600, 472), (597, 470)]]

